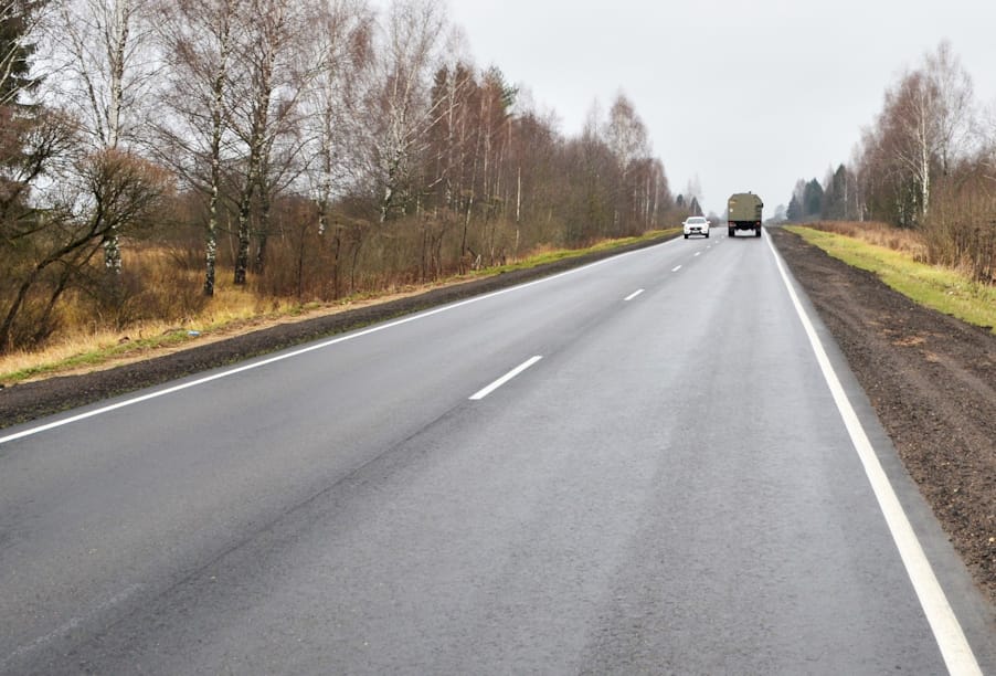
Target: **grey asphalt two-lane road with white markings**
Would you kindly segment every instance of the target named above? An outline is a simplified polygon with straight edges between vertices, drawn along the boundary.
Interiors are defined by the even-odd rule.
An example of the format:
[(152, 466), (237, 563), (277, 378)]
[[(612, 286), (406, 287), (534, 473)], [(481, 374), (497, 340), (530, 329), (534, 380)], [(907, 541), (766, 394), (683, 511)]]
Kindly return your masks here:
[(813, 336), (713, 231), (4, 430), (0, 673), (996, 673)]

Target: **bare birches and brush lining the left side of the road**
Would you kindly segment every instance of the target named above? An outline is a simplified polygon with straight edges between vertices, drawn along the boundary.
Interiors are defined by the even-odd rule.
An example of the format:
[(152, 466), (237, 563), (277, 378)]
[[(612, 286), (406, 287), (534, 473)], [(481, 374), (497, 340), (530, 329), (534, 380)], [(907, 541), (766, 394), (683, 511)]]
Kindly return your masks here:
[[(633, 103), (565, 136), (436, 0), (0, 0), (0, 351), (655, 229)], [(220, 275), (225, 275), (222, 279)]]

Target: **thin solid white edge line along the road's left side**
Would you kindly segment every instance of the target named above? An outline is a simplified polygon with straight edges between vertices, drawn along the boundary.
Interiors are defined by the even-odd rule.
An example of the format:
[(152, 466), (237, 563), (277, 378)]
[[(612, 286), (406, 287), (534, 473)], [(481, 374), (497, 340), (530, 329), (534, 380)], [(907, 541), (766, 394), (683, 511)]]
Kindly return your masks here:
[(536, 286), (538, 284), (545, 284), (547, 282), (552, 282), (553, 279), (559, 279), (561, 277), (565, 277), (568, 275), (573, 275), (585, 270), (591, 270), (592, 267), (597, 267), (598, 265), (605, 265), (606, 263), (613, 261), (619, 261), (627, 256), (646, 253), (647, 251), (655, 249), (657, 246), (664, 246), (671, 242), (676, 242), (677, 240), (667, 240), (666, 242), (661, 242), (660, 244), (655, 244), (654, 246), (647, 246), (644, 249), (637, 249), (635, 251), (628, 251), (626, 253), (618, 254), (616, 256), (610, 256), (607, 258), (602, 258), (601, 261), (595, 261), (594, 263), (590, 263), (587, 265), (582, 265), (581, 267), (574, 267), (572, 270), (564, 271), (562, 273), (558, 273), (555, 275), (550, 275), (549, 277), (541, 277), (539, 279), (534, 279), (532, 282), (527, 282), (525, 284), (519, 284), (517, 286), (510, 286), (508, 288), (502, 288), (496, 292), (491, 292), (490, 294), (485, 294), (483, 296), (474, 296), (473, 298), (467, 298), (466, 300), (459, 300), (458, 303), (453, 303), (451, 305), (444, 305), (442, 307), (437, 307), (435, 309), (426, 310), (423, 313), (417, 313), (415, 315), (409, 315), (407, 317), (403, 317), (401, 319), (396, 319), (394, 321), (389, 321), (388, 324), (380, 324), (378, 326), (363, 329), (361, 331), (357, 331), (354, 334), (347, 334), (346, 336), (339, 336), (338, 338), (332, 338), (330, 340), (325, 340), (322, 342), (318, 342), (315, 345), (309, 345), (308, 347), (300, 348), (290, 352), (285, 352), (283, 355), (277, 355), (275, 357), (269, 357), (267, 359), (263, 359), (261, 361), (254, 361), (252, 363), (247, 363), (241, 367), (236, 367), (234, 369), (229, 369), (226, 371), (222, 371), (220, 373), (214, 373), (213, 376), (208, 376), (205, 378), (198, 378), (197, 380), (191, 380), (190, 382), (184, 382), (182, 384), (173, 385), (171, 388), (167, 388), (165, 390), (157, 390), (155, 392), (149, 392), (148, 394), (142, 394), (140, 397), (135, 397), (133, 399), (127, 399), (125, 401), (119, 401), (118, 403), (110, 404), (107, 406), (102, 406), (99, 409), (94, 409), (93, 411), (87, 411), (86, 413), (78, 413), (76, 415), (72, 415), (70, 418), (64, 418), (62, 420), (56, 420), (44, 425), (38, 425), (35, 427), (29, 427), (28, 430), (22, 430), (21, 432), (17, 432), (14, 434), (8, 434), (7, 436), (0, 436), (0, 445), (3, 445), (8, 442), (12, 442), (19, 439), (24, 439), (25, 436), (32, 436), (34, 434), (39, 434), (41, 432), (47, 432), (49, 430), (54, 430), (56, 427), (62, 427), (63, 425), (68, 425), (74, 422), (80, 422), (82, 420), (86, 420), (88, 418), (94, 418), (96, 415), (103, 415), (104, 413), (109, 413), (112, 411), (116, 411), (117, 409), (124, 409), (125, 406), (130, 406), (133, 404), (141, 403), (144, 401), (149, 401), (150, 399), (158, 399), (159, 397), (166, 397), (167, 394), (172, 394), (174, 392), (180, 392), (182, 390), (187, 390), (189, 388), (195, 388), (198, 385), (202, 385), (209, 383), (214, 380), (219, 380), (221, 378), (227, 378), (229, 376), (234, 376), (235, 373), (241, 373), (243, 371), (251, 371), (253, 369), (258, 369), (259, 367), (264, 367), (271, 363), (275, 363), (277, 361), (283, 361), (284, 359), (290, 359), (292, 357), (298, 357), (300, 355), (305, 355), (307, 352), (312, 352), (315, 350), (321, 350), (327, 347), (337, 345), (339, 342), (345, 342), (347, 340), (353, 340), (354, 338), (360, 338), (362, 336), (369, 336), (370, 334), (377, 334), (379, 331), (386, 330), (389, 328), (394, 328), (395, 326), (401, 326), (402, 324), (409, 324), (410, 321), (416, 321), (418, 319), (424, 319), (425, 317), (432, 317), (433, 315), (438, 315), (442, 313), (449, 311), (452, 309), (456, 309), (458, 307), (463, 307), (465, 305), (470, 305), (471, 303), (479, 303), (481, 300), (487, 300), (489, 298), (494, 298), (496, 296), (501, 296), (505, 294), (510, 294), (516, 291), (520, 291), (523, 288), (529, 288), (530, 286)]

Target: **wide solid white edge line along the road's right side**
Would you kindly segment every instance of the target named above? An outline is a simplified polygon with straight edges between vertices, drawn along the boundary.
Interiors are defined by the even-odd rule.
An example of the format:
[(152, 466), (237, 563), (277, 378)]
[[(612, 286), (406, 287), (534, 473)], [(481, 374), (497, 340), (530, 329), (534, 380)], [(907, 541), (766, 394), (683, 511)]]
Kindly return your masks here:
[(806, 314), (798, 295), (795, 293), (795, 288), (792, 286), (792, 282), (788, 279), (782, 258), (775, 250), (771, 236), (769, 235), (766, 239), (767, 245), (772, 254), (774, 254), (778, 273), (782, 275), (782, 281), (788, 289), (788, 296), (793, 306), (795, 306), (795, 311), (799, 320), (802, 320), (806, 336), (809, 338), (809, 345), (816, 353), (816, 361), (819, 363), (823, 377), (830, 388), (834, 402), (837, 404), (837, 410), (844, 419), (851, 443), (861, 458), (861, 464), (865, 466), (865, 473), (875, 492), (879, 508), (886, 517), (886, 522), (892, 534), (896, 547), (899, 549), (907, 574), (910, 575), (910, 581), (916, 591), (916, 598), (920, 600), (920, 605), (923, 608), (926, 620), (934, 633), (934, 638), (937, 641), (937, 646), (941, 648), (944, 664), (952, 674), (982, 676), (982, 669), (975, 659), (972, 646), (968, 645), (968, 641), (965, 638), (965, 632), (958, 623), (926, 554), (923, 552), (923, 547), (920, 545), (920, 540), (910, 525), (910, 519), (896, 496), (896, 490), (892, 488), (889, 477), (875, 454), (875, 448), (868, 440), (868, 434), (865, 432), (858, 414), (855, 412), (850, 400), (844, 391), (844, 387), (840, 384), (840, 379), (837, 377), (827, 357), (826, 349), (816, 335), (813, 321)]

